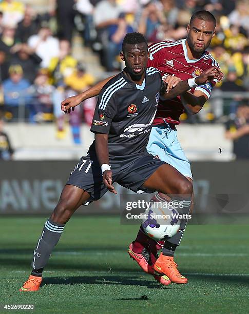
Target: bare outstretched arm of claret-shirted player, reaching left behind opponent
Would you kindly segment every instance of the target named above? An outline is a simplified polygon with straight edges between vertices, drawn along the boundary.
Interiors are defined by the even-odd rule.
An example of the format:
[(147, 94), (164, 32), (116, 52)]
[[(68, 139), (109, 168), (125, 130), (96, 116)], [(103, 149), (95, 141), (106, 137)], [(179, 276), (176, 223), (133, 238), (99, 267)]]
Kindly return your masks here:
[(65, 113), (70, 113), (71, 109), (74, 110), (74, 107), (80, 105), (80, 103), (82, 103), (83, 101), (97, 96), (99, 95), (101, 89), (105, 86), (105, 84), (107, 82), (109, 82), (111, 80), (112, 77), (114, 77), (115, 75), (109, 76), (107, 78), (105, 78), (105, 80), (95, 84), (94, 86), (92, 86), (91, 88), (87, 89), (86, 91), (84, 91), (81, 94), (75, 95), (75, 96), (71, 96), (68, 97), (67, 99), (65, 99), (62, 103), (61, 103), (61, 109), (62, 111), (64, 111)]

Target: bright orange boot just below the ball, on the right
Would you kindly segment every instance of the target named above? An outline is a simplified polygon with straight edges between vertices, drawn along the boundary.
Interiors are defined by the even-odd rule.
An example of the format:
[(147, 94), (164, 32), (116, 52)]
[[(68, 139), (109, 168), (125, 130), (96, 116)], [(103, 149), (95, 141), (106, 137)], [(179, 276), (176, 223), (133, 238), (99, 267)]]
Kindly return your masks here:
[(177, 269), (177, 264), (174, 262), (174, 257), (165, 256), (163, 253), (160, 254), (154, 269), (162, 275), (166, 275), (171, 282), (178, 284), (186, 284), (187, 278), (182, 276)]

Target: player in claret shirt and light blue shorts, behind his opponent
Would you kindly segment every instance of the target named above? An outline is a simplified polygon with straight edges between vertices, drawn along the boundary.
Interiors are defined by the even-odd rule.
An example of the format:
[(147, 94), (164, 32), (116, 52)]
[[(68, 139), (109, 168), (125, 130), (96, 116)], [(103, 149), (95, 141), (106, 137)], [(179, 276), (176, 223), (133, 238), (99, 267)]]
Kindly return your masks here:
[[(205, 50), (215, 35), (215, 26), (216, 20), (213, 14), (208, 11), (198, 11), (191, 16), (187, 26), (188, 36), (186, 39), (177, 42), (164, 41), (149, 46), (148, 66), (157, 68), (162, 76), (167, 76), (164, 80), (168, 84), (168, 91), (176, 86), (179, 80), (197, 77), (202, 71), (210, 67), (218, 67), (213, 56)], [(223, 76), (223, 74), (221, 75)], [(62, 110), (70, 112), (70, 108), (73, 109), (85, 99), (98, 95), (108, 80), (110, 77), (84, 93), (66, 99), (62, 102)], [(158, 155), (161, 160), (175, 167), (189, 182), (193, 181), (190, 163), (177, 139), (176, 125), (180, 123), (179, 117), (184, 110), (190, 114), (198, 113), (201, 110), (216, 83), (217, 80), (214, 79), (202, 86), (191, 88), (190, 91), (181, 93), (174, 99), (160, 100), (152, 124), (147, 151), (153, 155)], [(152, 200), (154, 202), (166, 202), (169, 199), (166, 195), (158, 192)], [(138, 236), (130, 244), (128, 252), (144, 271), (153, 274), (157, 252), (162, 248), (158, 263), (164, 266), (159, 267), (164, 269), (164, 272), (173, 282), (187, 283), (187, 279), (181, 277), (174, 262), (174, 252), (180, 244), (183, 231), (184, 229), (181, 228), (180, 232), (173, 238), (165, 241), (165, 243), (164, 241), (157, 243), (148, 238), (143, 233), (143, 229), (140, 228)]]

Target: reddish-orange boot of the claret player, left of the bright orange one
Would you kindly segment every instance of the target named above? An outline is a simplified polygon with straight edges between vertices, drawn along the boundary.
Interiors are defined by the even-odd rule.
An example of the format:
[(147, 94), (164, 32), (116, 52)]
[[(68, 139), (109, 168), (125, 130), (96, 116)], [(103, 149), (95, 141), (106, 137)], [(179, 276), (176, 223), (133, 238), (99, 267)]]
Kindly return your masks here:
[(169, 285), (171, 282), (169, 278), (165, 274), (162, 274), (162, 276), (161, 275), (158, 276), (158, 274), (155, 272), (153, 268), (157, 260), (155, 255), (149, 252), (146, 248), (142, 250), (141, 254), (135, 253), (132, 250), (132, 245), (133, 243), (130, 244), (129, 249), (128, 249), (130, 258), (136, 261), (139, 264), (139, 266), (143, 269), (143, 271), (151, 274), (162, 285), (165, 285), (165, 286)]

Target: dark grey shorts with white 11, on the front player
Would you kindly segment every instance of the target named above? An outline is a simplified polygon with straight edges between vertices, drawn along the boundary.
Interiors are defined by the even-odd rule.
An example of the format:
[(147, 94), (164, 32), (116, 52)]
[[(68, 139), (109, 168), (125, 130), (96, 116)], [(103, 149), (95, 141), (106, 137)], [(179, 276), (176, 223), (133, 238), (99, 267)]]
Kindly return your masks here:
[[(136, 193), (153, 193), (154, 190), (142, 188), (144, 182), (165, 162), (144, 152), (143, 154), (127, 155), (109, 159), (112, 171), (112, 182)], [(82, 157), (71, 172), (66, 184), (77, 186), (90, 194), (88, 205), (97, 201), (108, 191), (102, 183), (103, 177), (97, 155), (93, 151)]]

